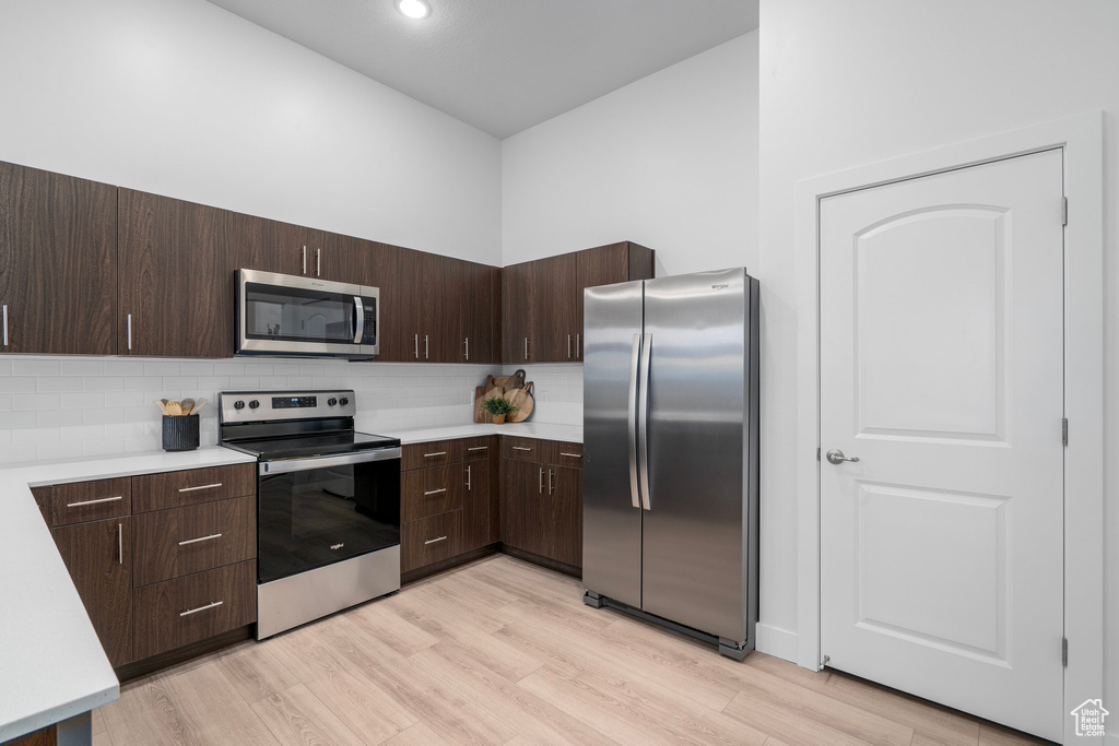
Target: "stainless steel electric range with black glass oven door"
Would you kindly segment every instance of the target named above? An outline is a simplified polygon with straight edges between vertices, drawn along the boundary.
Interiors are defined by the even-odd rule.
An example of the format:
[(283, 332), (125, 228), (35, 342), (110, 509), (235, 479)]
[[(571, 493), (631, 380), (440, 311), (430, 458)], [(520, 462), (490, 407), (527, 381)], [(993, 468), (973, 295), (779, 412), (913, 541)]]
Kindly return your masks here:
[(256, 639), (401, 587), (401, 442), (354, 391), (226, 391), (222, 445), (256, 456)]

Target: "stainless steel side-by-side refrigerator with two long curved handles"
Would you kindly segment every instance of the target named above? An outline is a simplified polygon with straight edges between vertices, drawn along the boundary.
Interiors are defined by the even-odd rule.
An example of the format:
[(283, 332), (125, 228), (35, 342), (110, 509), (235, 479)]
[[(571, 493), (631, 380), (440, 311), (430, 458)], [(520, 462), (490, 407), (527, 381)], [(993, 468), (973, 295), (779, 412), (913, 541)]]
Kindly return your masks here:
[(758, 281), (585, 291), (583, 585), (742, 660), (758, 620)]

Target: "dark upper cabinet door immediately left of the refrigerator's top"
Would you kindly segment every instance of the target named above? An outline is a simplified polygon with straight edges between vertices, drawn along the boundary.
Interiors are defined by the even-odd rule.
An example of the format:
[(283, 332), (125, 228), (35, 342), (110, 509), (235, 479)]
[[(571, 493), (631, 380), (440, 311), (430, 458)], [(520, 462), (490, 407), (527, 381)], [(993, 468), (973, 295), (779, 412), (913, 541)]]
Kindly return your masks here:
[(538, 351), (533, 362), (575, 360), (575, 334), (581, 329), (575, 302), (579, 295), (575, 266), (574, 254), (533, 262), (533, 285), (540, 304), (533, 334)]

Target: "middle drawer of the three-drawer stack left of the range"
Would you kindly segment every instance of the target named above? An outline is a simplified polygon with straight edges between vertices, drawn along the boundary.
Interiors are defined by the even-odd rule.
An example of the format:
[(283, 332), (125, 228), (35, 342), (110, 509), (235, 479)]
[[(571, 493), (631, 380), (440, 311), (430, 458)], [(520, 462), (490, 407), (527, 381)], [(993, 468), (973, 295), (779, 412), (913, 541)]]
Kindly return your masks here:
[(135, 587), (256, 557), (252, 497), (137, 516)]

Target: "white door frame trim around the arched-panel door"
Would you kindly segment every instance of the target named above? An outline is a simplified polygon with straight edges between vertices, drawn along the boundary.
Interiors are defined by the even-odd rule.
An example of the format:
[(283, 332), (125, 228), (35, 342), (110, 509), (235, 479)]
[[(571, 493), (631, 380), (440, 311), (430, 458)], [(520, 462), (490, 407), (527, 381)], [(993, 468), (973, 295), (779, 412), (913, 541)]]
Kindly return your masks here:
[[(797, 663), (820, 670), (819, 202), (825, 197), (1061, 148), (1064, 229), (1064, 738), (1103, 695), (1103, 113), (1089, 112), (797, 182)], [(1059, 206), (1054, 206), (1059, 209)], [(1059, 423), (1054, 423), (1054, 427)], [(1059, 641), (1054, 641), (1057, 645)], [(1059, 651), (1054, 648), (1054, 654)]]

